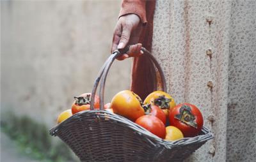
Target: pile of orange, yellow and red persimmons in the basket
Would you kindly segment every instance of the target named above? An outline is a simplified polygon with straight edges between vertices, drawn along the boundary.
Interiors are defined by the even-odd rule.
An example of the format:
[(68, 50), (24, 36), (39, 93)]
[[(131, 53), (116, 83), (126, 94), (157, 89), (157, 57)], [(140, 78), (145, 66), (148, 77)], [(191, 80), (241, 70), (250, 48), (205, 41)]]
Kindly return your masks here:
[[(58, 123), (77, 112), (90, 110), (90, 93), (81, 94), (74, 99), (72, 108), (59, 115)], [(99, 96), (95, 96), (95, 110), (99, 110), (99, 100)], [(168, 141), (198, 135), (204, 123), (202, 114), (195, 105), (176, 105), (172, 96), (163, 91), (152, 92), (144, 101), (132, 91), (121, 91), (113, 97), (111, 103), (104, 105), (104, 109), (122, 115)]]

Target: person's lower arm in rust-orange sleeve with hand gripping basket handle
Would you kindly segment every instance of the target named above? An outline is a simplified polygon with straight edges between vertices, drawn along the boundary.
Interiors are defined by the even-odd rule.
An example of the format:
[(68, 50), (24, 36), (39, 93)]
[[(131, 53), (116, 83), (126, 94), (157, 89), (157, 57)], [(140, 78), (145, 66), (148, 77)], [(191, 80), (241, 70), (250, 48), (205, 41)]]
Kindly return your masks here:
[(143, 26), (147, 24), (145, 0), (123, 0), (119, 18), (113, 34), (111, 52), (122, 50), (131, 45), (129, 51), (118, 57), (123, 60), (127, 57), (134, 57), (143, 52), (141, 43), (138, 43)]

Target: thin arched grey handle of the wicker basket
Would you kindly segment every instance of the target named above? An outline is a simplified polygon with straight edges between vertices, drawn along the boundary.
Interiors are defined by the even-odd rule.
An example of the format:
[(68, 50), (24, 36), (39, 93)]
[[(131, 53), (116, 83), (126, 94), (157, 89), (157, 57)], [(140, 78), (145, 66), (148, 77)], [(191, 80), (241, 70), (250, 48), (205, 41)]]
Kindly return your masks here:
[[(108, 57), (107, 61), (104, 63), (104, 65), (100, 69), (100, 72), (99, 72), (99, 74), (98, 74), (98, 76), (97, 76), (97, 78), (94, 82), (91, 98), (95, 98), (95, 94), (96, 94), (97, 87), (98, 87), (99, 82), (100, 82), (100, 78), (102, 79), (101, 82), (100, 82), (100, 94), (99, 94), (100, 110), (103, 110), (103, 108), (104, 108), (104, 88), (105, 88), (106, 78), (107, 78), (107, 75), (108, 75), (109, 68), (112, 65), (112, 63), (115, 61), (116, 57), (118, 57), (121, 54), (124, 54), (125, 52), (127, 52), (127, 50), (129, 50), (129, 47), (125, 51), (122, 51), (122, 52), (120, 52), (118, 50), (113, 52), (113, 54), (111, 54)], [(147, 55), (147, 57), (150, 58), (150, 61), (152, 61), (152, 63), (156, 66), (157, 70), (159, 71), (161, 81), (162, 81), (162, 85), (163, 85), (163, 91), (166, 92), (166, 82), (165, 82), (165, 78), (164, 78), (163, 70), (161, 69), (161, 66), (159, 65), (159, 63), (157, 63), (154, 56), (152, 54), (150, 54), (150, 52), (148, 52), (148, 50), (146, 48), (141, 47), (141, 50), (143, 51), (143, 55)], [(93, 110), (93, 105), (94, 105), (94, 99), (92, 99), (92, 101), (91, 101), (90, 110)]]

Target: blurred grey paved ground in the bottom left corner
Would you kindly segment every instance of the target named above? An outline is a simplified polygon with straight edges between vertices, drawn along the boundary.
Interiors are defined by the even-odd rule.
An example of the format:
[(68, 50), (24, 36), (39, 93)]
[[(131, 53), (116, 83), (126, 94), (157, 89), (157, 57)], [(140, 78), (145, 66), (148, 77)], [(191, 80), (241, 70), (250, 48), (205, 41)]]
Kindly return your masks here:
[(1, 132), (1, 162), (40, 162), (21, 154), (15, 147), (13, 141)]

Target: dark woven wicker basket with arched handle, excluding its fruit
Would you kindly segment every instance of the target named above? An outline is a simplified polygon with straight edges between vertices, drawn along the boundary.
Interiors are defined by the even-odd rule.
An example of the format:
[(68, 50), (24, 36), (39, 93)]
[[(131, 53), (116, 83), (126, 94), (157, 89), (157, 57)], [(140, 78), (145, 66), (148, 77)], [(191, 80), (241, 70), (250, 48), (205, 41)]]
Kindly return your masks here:
[[(163, 90), (166, 91), (163, 71), (156, 59), (145, 49), (161, 75)], [(108, 58), (93, 86), (92, 98), (100, 82), (100, 110), (86, 110), (72, 115), (50, 130), (52, 136), (59, 136), (81, 161), (182, 161), (196, 149), (213, 138), (207, 128), (202, 128), (198, 136), (168, 142), (129, 119), (112, 114), (104, 107), (104, 86), (106, 76), (113, 61), (120, 55), (116, 51)]]

